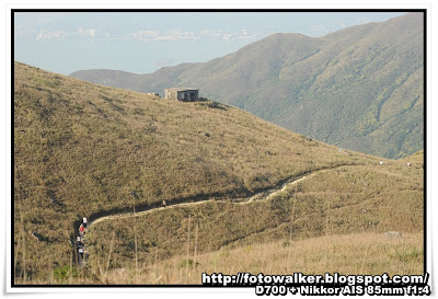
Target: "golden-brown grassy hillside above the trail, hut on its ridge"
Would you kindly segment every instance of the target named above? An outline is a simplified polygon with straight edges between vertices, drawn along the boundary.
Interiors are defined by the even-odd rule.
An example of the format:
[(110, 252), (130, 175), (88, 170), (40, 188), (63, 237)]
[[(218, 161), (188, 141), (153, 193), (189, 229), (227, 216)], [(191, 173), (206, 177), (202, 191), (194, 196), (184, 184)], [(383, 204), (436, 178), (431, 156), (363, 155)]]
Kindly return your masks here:
[(366, 163), (231, 106), (164, 101), (20, 62), (13, 104), (14, 269), (24, 283), (72, 262), (69, 241), (83, 216), (162, 199), (227, 205), (291, 177)]

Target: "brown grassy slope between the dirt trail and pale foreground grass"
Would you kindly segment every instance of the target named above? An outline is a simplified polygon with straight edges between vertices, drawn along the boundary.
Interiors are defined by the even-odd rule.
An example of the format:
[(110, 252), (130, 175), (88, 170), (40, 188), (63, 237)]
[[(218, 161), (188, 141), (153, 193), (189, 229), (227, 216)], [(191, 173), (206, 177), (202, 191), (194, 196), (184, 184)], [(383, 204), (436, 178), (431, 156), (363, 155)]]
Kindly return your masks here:
[[(410, 160), (418, 166), (415, 159)], [(273, 240), (295, 242), (392, 230), (416, 233), (423, 230), (422, 177), (422, 169), (408, 169), (405, 161), (385, 161), (383, 165), (370, 162), (316, 172), (268, 199), (245, 205), (209, 202), (102, 221), (90, 231), (89, 269), (97, 273), (96, 260), (107, 256), (110, 242), (105, 235), (112, 231), (117, 233), (111, 267), (132, 266), (135, 219), (138, 256), (146, 265), (181, 255), (188, 234), (191, 248), (203, 254)], [(196, 242), (194, 229), (187, 229), (189, 217), (198, 226)]]

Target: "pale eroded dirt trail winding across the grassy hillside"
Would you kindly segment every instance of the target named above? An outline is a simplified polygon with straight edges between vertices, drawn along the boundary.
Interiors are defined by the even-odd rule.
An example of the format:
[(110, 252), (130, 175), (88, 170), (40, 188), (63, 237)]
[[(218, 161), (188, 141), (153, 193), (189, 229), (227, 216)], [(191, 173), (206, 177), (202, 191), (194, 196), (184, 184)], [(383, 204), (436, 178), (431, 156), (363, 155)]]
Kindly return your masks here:
[[(293, 185), (298, 184), (299, 182), (301, 182), (303, 180), (308, 180), (308, 179), (310, 179), (310, 177), (312, 177), (312, 176), (314, 176), (316, 174), (324, 173), (324, 172), (327, 172), (327, 171), (333, 171), (333, 170), (336, 170), (336, 169), (339, 169), (339, 168), (343, 168), (343, 166), (348, 166), (348, 165), (350, 165), (350, 164), (339, 165), (339, 166), (334, 166), (334, 168), (320, 169), (320, 170), (316, 170), (314, 172), (304, 174), (302, 176), (290, 179), (287, 182), (278, 185), (278, 186), (275, 186), (275, 187), (273, 187), (270, 189), (267, 189), (267, 191), (260, 192), (260, 193), (257, 193), (255, 195), (252, 195), (251, 197), (244, 198), (241, 202), (234, 202), (233, 204), (235, 204), (235, 205), (247, 205), (250, 203), (257, 202), (257, 200), (267, 200), (267, 199), (270, 199), (272, 197), (276, 196), (277, 194), (279, 194), (281, 192), (285, 192), (290, 186), (293, 186)], [(168, 205), (168, 207), (165, 207), (165, 208), (163, 208), (163, 207), (154, 207), (154, 208), (150, 208), (150, 209), (147, 209), (147, 210), (138, 211), (136, 214), (134, 214), (134, 212), (124, 212), (124, 214), (117, 214), (117, 215), (103, 216), (103, 217), (100, 217), (97, 219), (94, 219), (94, 220), (90, 221), (89, 228), (91, 228), (93, 225), (96, 225), (96, 223), (102, 222), (102, 221), (107, 221), (107, 220), (113, 220), (113, 219), (130, 218), (130, 217), (140, 217), (140, 216), (143, 216), (143, 215), (148, 215), (150, 212), (154, 212), (157, 210), (172, 209), (172, 208), (178, 208), (178, 207), (189, 207), (189, 206), (195, 206), (195, 205), (201, 205), (201, 204), (205, 204), (205, 203), (208, 203), (208, 202), (218, 202), (218, 199), (211, 198), (211, 199), (205, 199), (205, 200), (198, 200), (198, 202), (187, 202), (187, 203), (180, 203), (180, 204), (170, 203)]]

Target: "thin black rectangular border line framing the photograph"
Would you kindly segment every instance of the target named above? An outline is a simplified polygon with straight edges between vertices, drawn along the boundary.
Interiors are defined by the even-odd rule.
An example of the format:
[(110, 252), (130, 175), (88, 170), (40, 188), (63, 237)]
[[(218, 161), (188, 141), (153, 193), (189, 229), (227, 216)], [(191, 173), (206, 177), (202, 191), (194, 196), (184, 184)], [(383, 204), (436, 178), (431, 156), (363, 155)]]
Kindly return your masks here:
[[(424, 189), (423, 189), (423, 242), (424, 274), (427, 273), (427, 9), (11, 9), (11, 147), (14, 145), (14, 13), (20, 12), (423, 12), (424, 42)], [(11, 150), (11, 177), (14, 176), (14, 151)], [(14, 183), (11, 180), (11, 238), (14, 232)], [(11, 239), (11, 262), (14, 256), (14, 245)], [(205, 285), (15, 285), (14, 271), (11, 267), (11, 288), (254, 288), (253, 286), (205, 286)]]

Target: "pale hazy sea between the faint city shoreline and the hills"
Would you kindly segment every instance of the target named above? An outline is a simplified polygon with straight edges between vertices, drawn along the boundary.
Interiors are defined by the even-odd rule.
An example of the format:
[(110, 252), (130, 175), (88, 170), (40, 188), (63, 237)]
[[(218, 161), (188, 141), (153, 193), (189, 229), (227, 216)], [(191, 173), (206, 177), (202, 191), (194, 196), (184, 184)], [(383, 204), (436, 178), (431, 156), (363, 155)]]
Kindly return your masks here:
[(255, 41), (255, 38), (154, 42), (96, 38), (18, 41), (14, 44), (13, 60), (62, 74), (87, 69), (148, 73), (181, 62), (205, 62), (233, 53)]

